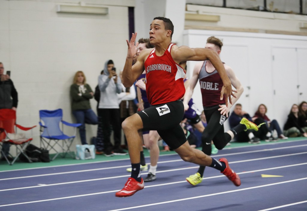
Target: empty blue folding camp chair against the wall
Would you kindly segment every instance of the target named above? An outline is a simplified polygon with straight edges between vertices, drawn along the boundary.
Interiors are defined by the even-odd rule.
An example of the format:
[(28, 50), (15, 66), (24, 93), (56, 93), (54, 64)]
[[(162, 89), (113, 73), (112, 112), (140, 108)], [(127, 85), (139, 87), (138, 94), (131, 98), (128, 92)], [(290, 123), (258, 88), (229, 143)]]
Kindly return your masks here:
[[(54, 160), (60, 153), (63, 153), (63, 157), (65, 157), (66, 154), (69, 154), (74, 158), (75, 154), (70, 151), (70, 146), (76, 137), (76, 128), (81, 126), (81, 124), (72, 124), (62, 120), (62, 109), (54, 111), (40, 110), (39, 116), (39, 125), (41, 127), (41, 147), (47, 150), (53, 149), (56, 152), (51, 160)], [(62, 130), (60, 129), (60, 122), (62, 123)], [(64, 125), (74, 127), (75, 130), (73, 136), (64, 134)], [(60, 147), (60, 150), (58, 147)]]

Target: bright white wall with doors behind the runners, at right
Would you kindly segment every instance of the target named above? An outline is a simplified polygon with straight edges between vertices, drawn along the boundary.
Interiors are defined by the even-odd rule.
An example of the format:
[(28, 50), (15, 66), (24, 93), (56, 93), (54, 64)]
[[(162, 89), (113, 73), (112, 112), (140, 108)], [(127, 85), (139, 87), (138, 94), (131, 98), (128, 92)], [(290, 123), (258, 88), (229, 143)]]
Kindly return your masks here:
[[(283, 127), (292, 104), (307, 99), (307, 85), (299, 77), (306, 76), (306, 59), (303, 58), (307, 58), (307, 37), (185, 30), (184, 44), (204, 47), (209, 36), (223, 39), (220, 58), (233, 68), (243, 84), (245, 91), (237, 103), (241, 103), (243, 110), (250, 115), (255, 113), (259, 104), (265, 104), (268, 108), (267, 116), (277, 119)], [(195, 63), (188, 62), (189, 75)], [(297, 85), (300, 85), (299, 89)], [(194, 89), (192, 97), (201, 108), (199, 85)]]

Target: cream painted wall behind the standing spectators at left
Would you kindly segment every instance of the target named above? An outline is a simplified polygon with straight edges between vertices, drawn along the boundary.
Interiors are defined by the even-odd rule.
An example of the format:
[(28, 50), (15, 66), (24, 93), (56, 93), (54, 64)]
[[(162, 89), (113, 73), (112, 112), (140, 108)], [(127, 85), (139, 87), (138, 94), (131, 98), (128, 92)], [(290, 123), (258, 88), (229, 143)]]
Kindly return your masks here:
[[(75, 122), (69, 87), (76, 71), (84, 71), (87, 83), (95, 89), (106, 60), (113, 59), (117, 70), (124, 66), (129, 36), (127, 6), (84, 2), (108, 3), (109, 14), (59, 14), (54, 1), (0, 1), (0, 61), (5, 70), (11, 70), (18, 92), (18, 124), (38, 125), (39, 110), (58, 108), (63, 109), (65, 121)], [(91, 106), (96, 112), (95, 100)], [(96, 136), (97, 126), (86, 128), (89, 141)], [(68, 127), (64, 130), (72, 132)], [(39, 144), (38, 127), (33, 143)]]

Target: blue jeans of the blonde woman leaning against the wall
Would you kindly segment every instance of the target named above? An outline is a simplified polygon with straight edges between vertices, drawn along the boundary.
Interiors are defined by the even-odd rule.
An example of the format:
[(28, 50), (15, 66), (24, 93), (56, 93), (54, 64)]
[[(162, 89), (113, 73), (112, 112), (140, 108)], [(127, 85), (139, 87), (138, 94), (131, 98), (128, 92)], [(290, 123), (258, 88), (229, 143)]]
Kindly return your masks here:
[(91, 125), (97, 125), (98, 124), (97, 116), (94, 113), (94, 111), (91, 109), (72, 111), (72, 114), (75, 116), (77, 123), (82, 124), (79, 127), (81, 143), (87, 144), (86, 134), (85, 134), (85, 123)]

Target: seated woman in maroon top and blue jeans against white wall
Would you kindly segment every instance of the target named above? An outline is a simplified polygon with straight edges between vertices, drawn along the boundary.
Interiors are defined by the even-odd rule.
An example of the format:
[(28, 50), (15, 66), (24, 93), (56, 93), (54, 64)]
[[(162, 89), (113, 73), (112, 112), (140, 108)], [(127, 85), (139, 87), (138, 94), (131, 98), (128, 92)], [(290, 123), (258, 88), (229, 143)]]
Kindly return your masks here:
[[(288, 139), (288, 137), (284, 136), (282, 134), (282, 130), (280, 129), (280, 126), (276, 119), (273, 119), (272, 121), (266, 116), (267, 108), (264, 104), (260, 104), (258, 106), (258, 110), (256, 111), (255, 115), (253, 116), (252, 120), (255, 121), (257, 118), (261, 118), (266, 122), (266, 126), (269, 129), (270, 134), (267, 134), (269, 136), (269, 139), (266, 139), (266, 141), (276, 141), (276, 138), (273, 137), (273, 132), (276, 130), (277, 136), (280, 139)], [(256, 123), (257, 124), (257, 123)]]

